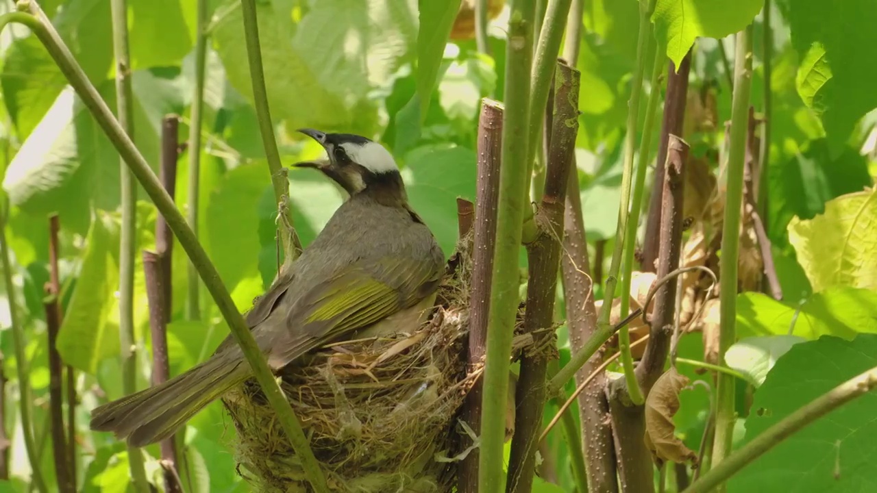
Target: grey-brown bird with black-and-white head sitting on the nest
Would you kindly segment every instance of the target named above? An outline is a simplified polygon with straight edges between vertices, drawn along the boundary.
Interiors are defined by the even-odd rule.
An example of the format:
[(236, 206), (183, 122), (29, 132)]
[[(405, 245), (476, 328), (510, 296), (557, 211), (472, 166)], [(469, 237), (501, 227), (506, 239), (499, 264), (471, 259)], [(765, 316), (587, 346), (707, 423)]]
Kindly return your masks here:
[[(411, 332), (417, 327), (411, 324), (431, 313), (446, 262), (430, 228), (411, 208), (396, 160), (384, 146), (351, 133), (298, 132), (323, 146), (326, 157), (293, 166), (319, 170), (347, 197), (246, 313), (275, 374), (341, 338)], [(96, 407), (90, 428), (145, 447), (167, 439), (252, 376), (229, 336), (207, 361), (185, 373)]]

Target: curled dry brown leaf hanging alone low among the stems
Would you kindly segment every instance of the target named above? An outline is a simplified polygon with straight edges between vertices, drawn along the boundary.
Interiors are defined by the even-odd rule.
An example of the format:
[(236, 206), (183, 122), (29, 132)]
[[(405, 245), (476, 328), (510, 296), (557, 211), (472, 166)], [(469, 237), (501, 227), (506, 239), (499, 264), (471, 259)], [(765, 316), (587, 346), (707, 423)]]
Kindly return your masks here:
[(674, 433), (673, 417), (679, 411), (679, 393), (686, 385), (688, 377), (670, 368), (645, 398), (645, 446), (659, 465), (664, 461), (697, 464), (697, 454)]

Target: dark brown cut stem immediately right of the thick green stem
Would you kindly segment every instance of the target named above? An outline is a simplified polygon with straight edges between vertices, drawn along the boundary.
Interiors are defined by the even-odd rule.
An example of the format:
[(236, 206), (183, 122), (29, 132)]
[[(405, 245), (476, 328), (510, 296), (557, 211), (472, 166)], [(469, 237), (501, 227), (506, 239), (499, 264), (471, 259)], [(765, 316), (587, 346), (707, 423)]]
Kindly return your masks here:
[[(560, 264), (560, 241), (563, 235), (563, 209), (567, 195), (567, 179), (575, 152), (575, 136), (579, 130), (580, 74), (566, 64), (557, 63), (555, 72), (551, 148), (545, 172), (545, 189), (537, 212), (539, 232), (536, 241), (528, 244), (530, 270), (527, 282), (527, 311), (524, 332), (550, 328), (554, 322), (554, 301), (557, 292), (557, 271)], [(576, 176), (577, 177), (577, 176)], [(534, 338), (536, 347), (553, 332)], [(517, 382), (515, 435), (509, 459), (509, 490), (528, 493), (536, 470), (538, 433), (542, 428), (545, 407), (545, 375), (548, 358), (545, 354), (525, 354)]]

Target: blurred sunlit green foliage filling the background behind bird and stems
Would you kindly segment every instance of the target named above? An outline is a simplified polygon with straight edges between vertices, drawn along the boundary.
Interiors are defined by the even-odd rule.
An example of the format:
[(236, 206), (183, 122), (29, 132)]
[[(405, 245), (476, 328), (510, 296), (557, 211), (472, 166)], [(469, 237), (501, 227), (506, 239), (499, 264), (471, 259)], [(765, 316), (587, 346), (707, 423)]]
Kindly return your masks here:
[[(109, 2), (50, 0), (40, 4), (91, 82), (114, 107)], [(189, 134), (196, 4), (194, 0), (129, 0), (128, 4), (135, 141), (154, 167), (160, 118), (168, 113), (181, 115), (181, 140)], [(457, 236), (454, 199), (474, 200), (480, 99), (502, 100), (503, 96), (505, 13), (489, 30), (490, 56), (476, 51), (474, 39), (446, 44), (445, 32), (459, 2), (260, 0), (257, 4), (267, 93), (284, 164), (321, 152), (316, 144), (296, 135), (298, 127), (380, 139), (403, 167), (411, 204), (446, 254), (451, 254)], [(752, 104), (762, 111), (766, 91), (773, 96), (766, 223), (786, 297), (774, 301), (759, 293), (744, 293), (738, 298), (738, 332), (746, 339), (726, 362), (758, 387), (752, 409), (771, 410), (769, 416), (741, 413), (742, 441), (831, 386), (877, 364), (873, 357), (864, 361), (862, 355), (873, 356), (874, 351), (868, 353), (866, 348), (873, 348), (870, 334), (877, 333), (877, 195), (866, 189), (873, 187), (877, 175), (877, 113), (873, 111), (877, 93), (872, 89), (877, 73), (869, 61), (870, 50), (877, 44), (872, 28), (877, 21), (877, 0), (833, 4), (816, 0), (773, 4), (769, 88), (763, 82), (763, 54), (767, 52), (763, 49), (763, 12), (759, 13), (762, 2), (659, 0), (652, 18), (670, 59), (680, 61), (695, 43), (692, 87), (714, 88), (710, 90), (717, 98), (718, 122), (724, 122), (730, 118), (731, 88), (719, 44), (733, 54), (733, 41), (709, 37), (732, 34), (755, 17)], [(244, 311), (274, 276), (275, 204), (253, 110), (239, 2), (211, 0), (209, 5), (205, 146), (187, 153), (202, 153), (199, 236)], [(9, 8), (10, 3), (0, 5), (0, 9)], [(686, 12), (698, 15), (686, 16)], [(574, 40), (581, 42), (577, 178), (593, 253), (594, 241), (608, 240), (611, 245), (615, 234), (620, 146), (636, 52), (636, 2), (588, 1), (582, 22), (583, 35)], [(0, 171), (4, 193), (12, 204), (6, 233), (14, 254), (15, 289), (24, 295), (18, 301), (25, 314), (32, 368), (27, 378), (35, 394), (41, 466), (52, 483), (42, 298), (48, 279), (46, 216), (57, 211), (62, 226), (65, 311), (58, 347), (64, 361), (82, 370), (77, 384), (82, 397), (77, 408), (80, 489), (125, 491), (129, 488), (125, 447), (105, 434), (87, 431), (88, 410), (108, 398), (121, 397), (118, 155), (26, 29), (7, 28), (0, 35), (0, 53), (4, 103), (0, 105)], [(721, 142), (724, 132), (687, 138), (696, 150), (698, 144)], [(187, 163), (188, 154), (183, 153), (176, 186), (176, 203), (182, 210), (189, 204)], [(343, 196), (309, 170), (293, 170), (289, 180), (296, 227), (307, 245)], [(142, 190), (138, 212), (138, 249), (153, 248), (155, 211)], [(177, 245), (174, 312), (168, 327), (173, 375), (203, 361), (228, 332), (206, 293), (202, 293), (203, 321), (183, 320), (186, 265)], [(11, 479), (0, 482), (0, 491), (26, 491), (31, 466), (24, 454), (15, 405), (18, 386), (5, 288), (0, 288), (0, 297), (4, 298), (0, 351), (8, 380), (4, 426), (11, 439)], [(141, 265), (135, 297), (142, 388), (149, 382), (150, 342)], [(562, 308), (562, 293), (560, 297)], [(869, 334), (860, 335), (863, 332)], [(789, 334), (797, 337), (788, 339)], [(569, 357), (565, 327), (560, 329), (560, 354), (563, 364)], [(822, 359), (815, 361), (816, 354)], [(680, 355), (702, 360), (700, 337), (683, 338)], [(805, 368), (812, 371), (806, 373)], [(709, 375), (681, 369), (692, 379), (711, 382)], [(709, 398), (695, 387), (683, 392), (681, 403), (675, 418), (677, 433), (697, 450)], [(548, 404), (546, 418), (554, 411), (553, 404)], [(730, 490), (773, 490), (753, 484), (788, 486), (783, 475), (792, 464), (795, 470), (812, 475), (829, 474), (814, 467), (828, 460), (831, 447), (836, 447), (832, 440), (839, 440), (844, 460), (831, 487), (819, 476), (819, 481), (797, 482), (786, 489), (866, 491), (864, 478), (873, 477), (877, 467), (873, 461), (859, 459), (873, 451), (873, 439), (863, 439), (865, 428), (848, 435), (844, 430), (873, 419), (875, 411), (873, 399), (863, 399), (855, 407), (832, 413), (809, 431), (819, 435), (824, 446), (818, 454), (816, 448), (789, 442), (732, 482)], [(830, 422), (836, 427), (831, 428)], [(219, 404), (189, 422), (186, 466), (193, 491), (248, 490), (225, 447), (230, 433), (233, 429)], [(550, 435), (547, 450), (554, 456), (560, 486), (538, 480), (537, 490), (572, 488), (566, 447), (560, 432)], [(158, 477), (157, 447), (146, 452), (147, 472)]]

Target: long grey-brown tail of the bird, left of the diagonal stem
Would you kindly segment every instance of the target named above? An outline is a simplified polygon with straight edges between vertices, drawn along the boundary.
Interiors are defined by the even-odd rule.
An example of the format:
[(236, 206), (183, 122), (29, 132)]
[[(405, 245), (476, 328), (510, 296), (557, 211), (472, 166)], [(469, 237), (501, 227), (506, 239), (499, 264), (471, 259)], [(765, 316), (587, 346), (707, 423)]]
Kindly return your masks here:
[(246, 361), (214, 356), (168, 382), (140, 390), (91, 411), (91, 429), (114, 432), (133, 447), (166, 439), (251, 374)]

